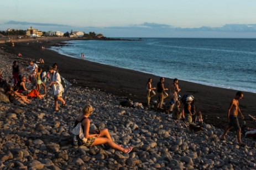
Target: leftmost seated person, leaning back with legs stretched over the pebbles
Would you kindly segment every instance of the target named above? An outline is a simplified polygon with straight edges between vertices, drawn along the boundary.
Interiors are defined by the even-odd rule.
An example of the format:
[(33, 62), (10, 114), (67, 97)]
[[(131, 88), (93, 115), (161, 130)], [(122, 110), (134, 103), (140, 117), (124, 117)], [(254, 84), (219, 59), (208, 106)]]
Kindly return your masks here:
[(23, 94), (18, 93), (19, 87), (16, 86), (14, 89), (12, 89), (12, 86), (10, 84), (7, 85), (7, 89), (5, 94), (9, 97), (9, 101), (12, 103), (18, 102), (20, 104), (29, 104), (31, 100), (27, 98), (27, 96), (24, 96)]

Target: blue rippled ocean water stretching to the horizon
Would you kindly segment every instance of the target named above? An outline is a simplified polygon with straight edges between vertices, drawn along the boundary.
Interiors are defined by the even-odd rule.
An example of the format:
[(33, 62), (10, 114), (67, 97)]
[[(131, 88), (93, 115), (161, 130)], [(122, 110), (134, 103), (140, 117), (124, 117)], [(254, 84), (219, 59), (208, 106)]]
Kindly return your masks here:
[(92, 62), (256, 93), (256, 39), (143, 38), (67, 43), (51, 50), (75, 58), (85, 53), (85, 59)]

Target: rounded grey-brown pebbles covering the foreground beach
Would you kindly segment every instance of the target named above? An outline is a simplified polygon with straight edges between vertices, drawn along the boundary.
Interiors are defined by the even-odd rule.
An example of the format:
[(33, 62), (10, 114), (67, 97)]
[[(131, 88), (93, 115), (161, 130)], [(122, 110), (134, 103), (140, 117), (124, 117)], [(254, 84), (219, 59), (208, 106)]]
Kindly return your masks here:
[[(33, 48), (36, 47), (33, 46)], [(25, 54), (25, 51), (23, 53)], [(17, 55), (1, 50), (0, 68), (4, 77), (7, 80), (11, 79), (10, 70), (12, 70), (12, 62), (14, 60), (18, 59), (20, 67), (25, 68), (29, 57), (33, 59), (40, 58), (40, 56), (17, 58)], [(44, 60), (47, 62), (45, 65), (58, 61), (58, 59), (60, 58), (48, 59), (45, 56)], [(70, 60), (79, 62), (77, 59)], [(67, 59), (66, 62), (69, 63)], [(90, 66), (92, 63), (85, 63), (89, 65), (88, 68), (92, 67)], [(54, 112), (54, 99), (50, 94), (49, 87), (46, 97), (43, 99), (35, 98), (29, 105), (14, 105), (1, 98), (1, 169), (256, 168), (255, 140), (245, 138), (242, 135), (242, 141), (247, 146), (240, 147), (237, 144), (234, 131), (228, 133), (226, 140), (220, 140), (224, 129), (220, 128), (221, 126), (218, 124), (218, 127), (216, 127), (211, 121), (207, 122), (206, 120), (203, 131), (195, 133), (191, 132), (180, 120), (171, 119), (168, 114), (163, 112), (148, 108), (122, 107), (119, 102), (126, 100), (127, 96), (137, 101), (142, 98), (140, 87), (138, 88), (138, 93), (132, 93), (132, 90), (129, 91), (128, 87), (124, 87), (124, 92), (120, 93), (119, 91), (118, 94), (117, 91), (122, 89), (122, 86), (119, 86), (116, 92), (109, 87), (102, 89), (103, 85), (101, 86), (101, 84), (105, 79), (102, 79), (103, 75), (101, 73), (93, 74), (94, 78), (95, 75), (98, 75), (98, 84), (96, 78), (92, 79), (92, 75), (85, 83), (85, 79), (81, 80), (81, 77), (78, 78), (68, 74), (68, 72), (72, 73), (72, 69), (70, 69), (74, 68), (72, 64), (70, 64), (70, 68), (64, 67), (65, 64), (61, 64), (60, 62), (60, 66), (63, 67), (60, 67), (60, 70), (62, 69), (63, 75), (71, 81), (73, 86), (64, 95), (67, 102), (66, 107), (60, 108), (59, 112)], [(112, 67), (106, 66), (102, 70), (100, 68), (98, 66), (95, 72), (103, 72), (102, 70), (106, 68), (111, 70)], [(77, 70), (77, 73), (82, 74), (82, 72), (83, 70)], [(122, 70), (122, 72), (132, 71)], [(62, 74), (61, 71), (60, 74)], [(112, 76), (112, 74), (114, 76), (112, 72), (105, 73), (105, 76)], [(119, 75), (117, 74), (117, 76)], [(146, 76), (148, 75), (144, 75), (143, 78)], [(155, 78), (155, 81), (158, 80), (154, 76), (153, 78)], [(128, 77), (127, 79), (129, 81)], [(46, 86), (48, 86), (48, 83), (46, 83)], [(128, 83), (128, 85), (130, 84)], [(185, 87), (182, 83), (180, 86), (181, 88), (183, 86), (184, 90), (190, 91), (190, 87)], [(200, 87), (200, 85), (197, 86), (197, 88)], [(203, 86), (202, 90), (204, 89), (207, 89), (207, 87)], [(222, 91), (224, 90), (219, 89), (217, 93)], [(195, 92), (195, 94), (198, 93)], [(234, 94), (234, 91), (228, 91), (226, 96), (228, 98), (227, 103)], [(255, 96), (255, 94), (246, 94), (247, 98)], [(203, 95), (207, 96), (207, 94), (201, 92), (201, 96)], [(197, 98), (201, 96), (198, 95)], [(203, 99), (201, 98), (201, 100)], [(208, 102), (215, 103), (216, 101), (217, 99), (214, 98), (213, 101)], [(113, 141), (123, 144), (124, 147), (132, 145), (132, 152), (129, 154), (122, 153), (104, 145), (88, 148), (85, 146), (73, 146), (71, 129), (74, 126), (75, 118), (80, 113), (79, 109), (86, 103), (90, 103), (95, 109), (90, 117), (91, 128), (107, 128)], [(209, 105), (212, 105), (212, 103)], [(216, 105), (220, 106), (221, 104), (218, 103)], [(223, 112), (223, 118), (226, 116), (228, 107), (228, 104), (224, 103), (224, 105), (226, 105), (226, 108), (222, 108), (225, 111)], [(245, 104), (243, 105), (245, 106)], [(249, 113), (250, 109), (255, 107), (253, 102), (246, 103), (246, 105), (247, 107), (245, 108)], [(214, 108), (210, 109), (214, 110)], [(208, 115), (208, 117), (211, 116)], [(219, 117), (222, 118), (222, 116)], [(222, 126), (224, 125), (222, 122)]]

